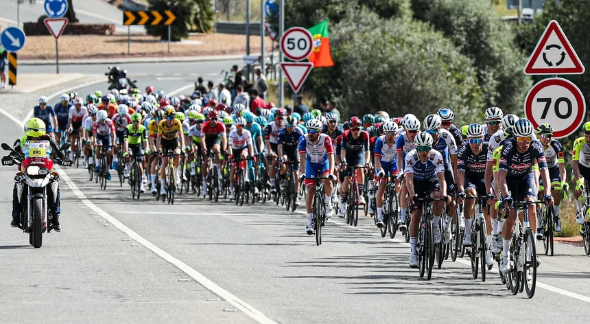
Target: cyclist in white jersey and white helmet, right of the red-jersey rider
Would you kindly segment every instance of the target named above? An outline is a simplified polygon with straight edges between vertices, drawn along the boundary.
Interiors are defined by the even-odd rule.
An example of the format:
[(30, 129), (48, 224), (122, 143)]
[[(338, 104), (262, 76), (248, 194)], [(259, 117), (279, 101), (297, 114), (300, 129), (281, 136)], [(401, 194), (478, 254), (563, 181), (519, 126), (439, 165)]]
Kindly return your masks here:
[[(230, 159), (233, 156), (239, 159), (248, 159), (248, 157), (254, 157), (254, 148), (252, 147), (252, 134), (250, 131), (244, 129), (246, 128), (246, 120), (242, 117), (238, 117), (235, 119), (235, 128), (232, 128), (229, 132), (229, 140), (228, 140), (228, 153)], [(231, 175), (229, 178), (229, 198), (235, 199), (235, 194), (233, 191), (233, 184), (235, 180), (235, 171), (236, 167), (239, 165), (238, 162), (231, 163)], [(243, 163), (244, 168), (242, 169), (244, 172), (245, 181), (248, 182), (248, 172), (246, 172), (246, 166), (248, 163)]]

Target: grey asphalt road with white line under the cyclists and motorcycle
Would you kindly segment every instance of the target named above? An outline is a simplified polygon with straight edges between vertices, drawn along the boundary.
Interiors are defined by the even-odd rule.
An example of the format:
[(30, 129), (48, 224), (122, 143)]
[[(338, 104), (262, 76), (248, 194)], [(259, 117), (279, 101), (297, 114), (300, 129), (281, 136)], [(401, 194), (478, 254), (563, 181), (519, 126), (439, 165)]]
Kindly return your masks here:
[[(173, 91), (183, 81), (161, 84)], [(3, 115), (0, 128), (3, 142), (22, 133)], [(467, 258), (421, 279), (408, 267), (409, 245), (381, 238), (371, 218), (358, 227), (332, 218), (316, 246), (302, 213), (192, 195), (172, 206), (149, 195), (138, 202), (127, 185), (102, 191), (86, 176), (62, 172), (63, 230), (34, 249), (8, 225), (14, 168), (0, 169), (0, 323), (585, 323), (590, 315), (590, 258), (580, 246), (556, 244), (556, 256), (541, 257), (527, 299), (506, 290), (496, 266), (485, 283), (471, 279)]]

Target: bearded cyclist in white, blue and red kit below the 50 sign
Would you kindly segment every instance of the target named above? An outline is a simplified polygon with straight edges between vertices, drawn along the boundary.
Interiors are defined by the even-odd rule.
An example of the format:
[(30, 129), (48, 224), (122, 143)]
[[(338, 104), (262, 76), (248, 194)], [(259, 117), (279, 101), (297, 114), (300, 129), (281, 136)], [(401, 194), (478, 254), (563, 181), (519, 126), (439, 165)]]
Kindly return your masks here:
[(305, 198), (305, 207), (307, 209), (307, 227), (305, 231), (311, 235), (314, 228), (311, 226), (311, 220), (314, 218), (314, 195), (316, 194), (316, 176), (320, 172), (324, 183), (324, 205), (326, 207), (325, 220), (332, 215), (332, 181), (335, 179), (332, 172), (334, 170), (334, 147), (332, 139), (322, 134), (322, 122), (318, 119), (309, 119), (305, 123), (307, 134), (299, 138), (299, 167), (305, 170), (301, 174), (300, 180), (305, 178), (305, 187), (307, 187), (307, 196)]

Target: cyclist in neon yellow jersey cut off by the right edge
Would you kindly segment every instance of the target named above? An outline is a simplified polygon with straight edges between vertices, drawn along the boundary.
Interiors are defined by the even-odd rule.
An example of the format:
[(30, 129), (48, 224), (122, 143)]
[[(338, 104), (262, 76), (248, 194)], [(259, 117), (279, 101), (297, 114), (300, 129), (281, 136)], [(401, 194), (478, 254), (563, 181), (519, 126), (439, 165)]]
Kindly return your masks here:
[(574, 174), (574, 183), (576, 183), (576, 191), (574, 196), (576, 197), (576, 207), (578, 213), (576, 213), (576, 222), (578, 224), (584, 224), (585, 216), (582, 215), (582, 201), (579, 200), (584, 192), (585, 182), (580, 178), (590, 179), (590, 122), (586, 122), (582, 126), (583, 137), (579, 137), (574, 141), (574, 150), (571, 151), (571, 172)]

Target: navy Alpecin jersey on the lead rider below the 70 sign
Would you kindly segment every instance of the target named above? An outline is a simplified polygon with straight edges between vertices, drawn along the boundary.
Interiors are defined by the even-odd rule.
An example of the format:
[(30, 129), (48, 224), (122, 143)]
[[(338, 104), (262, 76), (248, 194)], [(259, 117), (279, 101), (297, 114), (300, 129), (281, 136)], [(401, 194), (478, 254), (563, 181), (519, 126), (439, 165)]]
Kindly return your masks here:
[(502, 148), (499, 170), (508, 172), (507, 177), (526, 176), (532, 172), (535, 161), (539, 164), (539, 170), (545, 170), (547, 169), (547, 161), (543, 152), (543, 145), (539, 141), (531, 141), (528, 150), (521, 153), (517, 150), (516, 140), (508, 139)]

